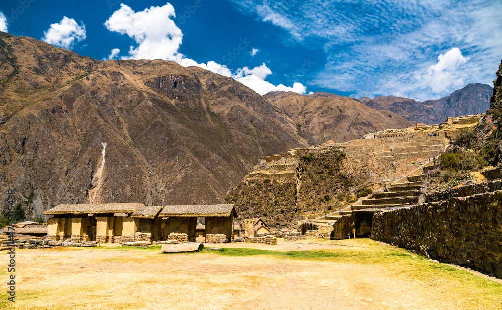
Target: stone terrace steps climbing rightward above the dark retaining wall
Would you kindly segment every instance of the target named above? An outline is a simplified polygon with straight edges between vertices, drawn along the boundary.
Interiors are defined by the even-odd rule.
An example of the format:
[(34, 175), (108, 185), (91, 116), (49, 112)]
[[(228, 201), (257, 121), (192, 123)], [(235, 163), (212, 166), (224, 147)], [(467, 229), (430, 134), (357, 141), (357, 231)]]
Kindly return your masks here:
[(352, 212), (376, 212), (417, 204), (422, 193), (420, 188), (427, 178), (426, 173), (434, 168), (434, 162), (430, 161), (402, 179), (386, 185), (384, 192), (374, 193), (370, 199), (358, 201), (338, 211), (302, 223), (302, 234), (307, 230), (320, 229), (320, 226), (333, 226), (342, 216), (350, 215)]

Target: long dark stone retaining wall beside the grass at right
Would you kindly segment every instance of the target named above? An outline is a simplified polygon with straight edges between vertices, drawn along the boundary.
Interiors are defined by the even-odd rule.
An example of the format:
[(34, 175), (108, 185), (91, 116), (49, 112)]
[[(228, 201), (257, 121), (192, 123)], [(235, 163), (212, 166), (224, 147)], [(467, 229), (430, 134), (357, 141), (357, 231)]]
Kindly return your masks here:
[(502, 278), (502, 191), (377, 213), (371, 239)]

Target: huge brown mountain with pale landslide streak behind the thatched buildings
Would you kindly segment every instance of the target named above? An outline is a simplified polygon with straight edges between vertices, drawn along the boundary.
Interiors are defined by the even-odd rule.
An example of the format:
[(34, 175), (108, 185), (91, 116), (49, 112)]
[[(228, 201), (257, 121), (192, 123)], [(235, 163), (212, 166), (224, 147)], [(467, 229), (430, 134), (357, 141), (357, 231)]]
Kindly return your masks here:
[(0, 195), (51, 205), (219, 203), (306, 141), (281, 109), (200, 68), (98, 61), (0, 33)]

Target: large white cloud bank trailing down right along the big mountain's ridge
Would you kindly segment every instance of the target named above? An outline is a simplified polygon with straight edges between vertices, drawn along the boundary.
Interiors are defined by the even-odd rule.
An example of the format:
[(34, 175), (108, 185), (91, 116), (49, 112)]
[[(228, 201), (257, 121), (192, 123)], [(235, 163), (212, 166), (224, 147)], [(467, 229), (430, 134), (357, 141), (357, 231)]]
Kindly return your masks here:
[[(186, 58), (179, 52), (183, 34), (171, 17), (174, 18), (176, 15), (173, 6), (169, 3), (162, 7), (152, 6), (140, 12), (134, 12), (127, 5), (121, 4), (120, 9), (113, 12), (104, 25), (110, 31), (126, 34), (135, 40), (136, 45), (130, 47), (129, 56), (122, 56), (122, 59), (160, 58), (178, 62), (185, 67), (198, 66), (217, 74), (232, 77), (261, 95), (275, 90), (306, 93), (307, 88), (301, 83), (294, 83), (292, 87), (289, 87), (283, 84), (275, 86), (265, 81), (265, 78), (272, 74), (265, 63), (253, 69), (244, 67), (238, 69), (236, 73), (232, 73), (226, 65), (214, 61), (205, 64)], [(108, 58), (116, 57), (119, 52), (119, 49), (113, 49)], [(255, 48), (251, 51), (252, 55), (258, 52), (259, 50)]]

